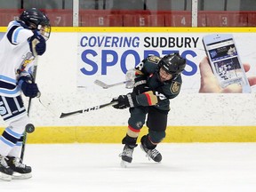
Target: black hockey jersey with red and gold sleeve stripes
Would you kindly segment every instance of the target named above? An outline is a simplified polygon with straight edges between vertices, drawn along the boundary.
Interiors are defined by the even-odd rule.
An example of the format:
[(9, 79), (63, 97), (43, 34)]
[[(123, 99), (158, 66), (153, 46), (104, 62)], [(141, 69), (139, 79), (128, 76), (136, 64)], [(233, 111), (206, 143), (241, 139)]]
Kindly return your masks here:
[[(162, 110), (169, 110), (170, 99), (180, 93), (182, 84), (181, 76), (174, 76), (171, 80), (161, 82), (159, 78), (158, 63), (161, 58), (149, 56), (136, 66), (135, 84), (133, 92), (136, 92), (136, 100), (139, 106), (154, 106)], [(144, 92), (136, 89), (142, 84)]]

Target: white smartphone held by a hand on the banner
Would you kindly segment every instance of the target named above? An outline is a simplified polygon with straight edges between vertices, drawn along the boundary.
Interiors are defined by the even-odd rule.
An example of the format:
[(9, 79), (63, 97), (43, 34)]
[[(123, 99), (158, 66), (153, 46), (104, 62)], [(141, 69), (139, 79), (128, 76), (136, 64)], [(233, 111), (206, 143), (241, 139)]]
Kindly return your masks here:
[(203, 37), (203, 44), (220, 86), (224, 88), (229, 84), (241, 84), (243, 92), (251, 92), (234, 37), (231, 34), (208, 35)]

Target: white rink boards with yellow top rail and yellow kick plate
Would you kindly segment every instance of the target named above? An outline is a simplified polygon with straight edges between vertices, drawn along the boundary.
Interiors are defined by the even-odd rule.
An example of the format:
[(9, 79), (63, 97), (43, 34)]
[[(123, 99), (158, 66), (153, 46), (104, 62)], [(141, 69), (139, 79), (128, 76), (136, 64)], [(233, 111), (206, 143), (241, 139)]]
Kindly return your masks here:
[[(147, 54), (176, 51), (187, 58), (188, 66), (180, 95), (171, 100), (164, 142), (254, 142), (255, 88), (241, 94), (198, 93), (198, 65), (205, 56), (202, 36), (232, 33), (242, 61), (251, 64), (248, 76), (256, 76), (255, 32), (255, 28), (52, 28), (36, 76), (51, 107), (33, 100), (30, 119), (36, 132), (28, 134), (28, 143), (119, 143), (127, 130), (128, 109), (102, 108), (63, 119), (60, 112), (108, 103), (131, 92), (124, 85), (102, 89), (93, 82), (122, 82), (125, 71)], [(131, 42), (124, 44), (125, 37)], [(5, 125), (1, 119), (1, 131)]]

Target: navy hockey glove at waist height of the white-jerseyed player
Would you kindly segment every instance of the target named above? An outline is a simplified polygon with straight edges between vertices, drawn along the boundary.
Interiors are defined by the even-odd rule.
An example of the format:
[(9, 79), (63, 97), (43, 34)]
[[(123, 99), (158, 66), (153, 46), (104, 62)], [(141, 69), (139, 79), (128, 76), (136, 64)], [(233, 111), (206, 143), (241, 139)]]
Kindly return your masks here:
[(40, 95), (37, 84), (32, 81), (31, 77), (21, 76), (19, 85), (26, 97), (35, 98)]

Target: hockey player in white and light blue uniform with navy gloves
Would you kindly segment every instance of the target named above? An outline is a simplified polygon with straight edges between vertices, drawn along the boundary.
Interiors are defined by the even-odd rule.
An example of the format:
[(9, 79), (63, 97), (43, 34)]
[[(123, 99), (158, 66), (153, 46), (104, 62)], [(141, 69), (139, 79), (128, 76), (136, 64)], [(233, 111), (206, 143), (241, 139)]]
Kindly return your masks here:
[[(29, 124), (21, 92), (34, 98), (39, 93), (32, 71), (37, 55), (46, 50), (50, 20), (36, 8), (12, 20), (0, 41), (0, 115), (9, 124), (0, 137), (0, 179), (28, 179), (31, 167), (20, 161), (23, 133)], [(14, 174), (15, 173), (15, 174)]]

